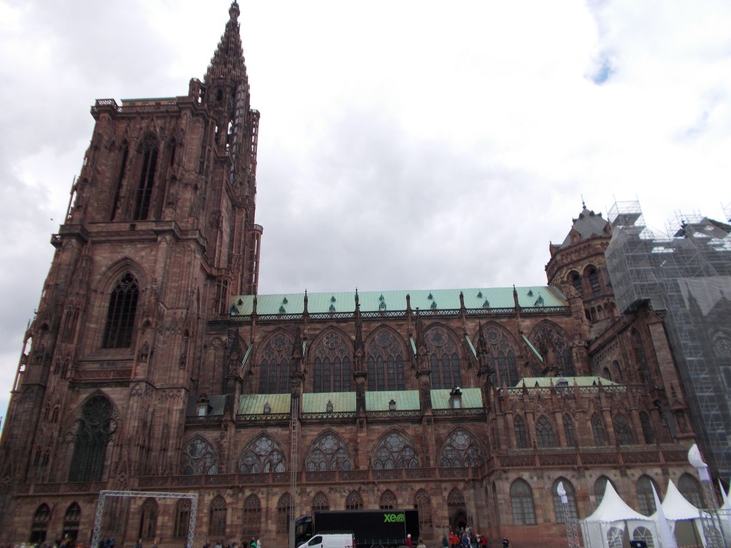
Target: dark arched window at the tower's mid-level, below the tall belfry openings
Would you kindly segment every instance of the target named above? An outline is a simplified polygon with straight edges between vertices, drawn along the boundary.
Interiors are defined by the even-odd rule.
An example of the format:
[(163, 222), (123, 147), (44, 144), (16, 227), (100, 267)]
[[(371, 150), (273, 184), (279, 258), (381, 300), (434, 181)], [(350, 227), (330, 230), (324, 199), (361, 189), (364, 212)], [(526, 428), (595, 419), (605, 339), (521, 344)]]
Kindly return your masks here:
[(124, 273), (109, 296), (107, 321), (102, 338), (103, 348), (128, 349), (132, 346), (139, 298), (140, 287), (135, 276), (129, 272)]

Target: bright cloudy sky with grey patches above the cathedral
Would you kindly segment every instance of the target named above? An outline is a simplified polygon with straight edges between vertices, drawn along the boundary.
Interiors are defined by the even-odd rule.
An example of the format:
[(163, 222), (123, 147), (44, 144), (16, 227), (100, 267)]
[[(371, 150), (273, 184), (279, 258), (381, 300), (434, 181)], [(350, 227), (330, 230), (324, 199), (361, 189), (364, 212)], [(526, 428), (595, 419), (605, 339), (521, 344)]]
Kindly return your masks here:
[[(0, 0), (0, 416), (94, 99), (184, 95), (229, 0)], [(545, 283), (581, 209), (731, 213), (727, 0), (257, 0), (260, 293)]]

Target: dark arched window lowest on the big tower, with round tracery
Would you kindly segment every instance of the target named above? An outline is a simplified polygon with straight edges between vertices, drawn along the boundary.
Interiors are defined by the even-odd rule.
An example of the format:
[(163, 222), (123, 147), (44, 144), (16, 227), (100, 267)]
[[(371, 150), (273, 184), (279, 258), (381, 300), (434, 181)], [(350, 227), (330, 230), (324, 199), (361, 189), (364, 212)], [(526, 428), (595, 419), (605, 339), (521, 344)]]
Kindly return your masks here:
[(102, 394), (91, 396), (76, 422), (69, 482), (98, 482), (104, 472), (107, 443), (116, 428), (112, 403)]

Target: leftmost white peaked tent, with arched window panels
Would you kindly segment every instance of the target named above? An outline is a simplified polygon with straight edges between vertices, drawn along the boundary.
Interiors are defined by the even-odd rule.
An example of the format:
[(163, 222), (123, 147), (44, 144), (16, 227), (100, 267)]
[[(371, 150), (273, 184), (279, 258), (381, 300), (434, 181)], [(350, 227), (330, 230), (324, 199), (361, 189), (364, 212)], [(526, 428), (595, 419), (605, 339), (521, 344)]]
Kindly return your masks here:
[(610, 482), (594, 514), (580, 523), (586, 548), (629, 548), (630, 539), (658, 546), (654, 520), (627, 506)]

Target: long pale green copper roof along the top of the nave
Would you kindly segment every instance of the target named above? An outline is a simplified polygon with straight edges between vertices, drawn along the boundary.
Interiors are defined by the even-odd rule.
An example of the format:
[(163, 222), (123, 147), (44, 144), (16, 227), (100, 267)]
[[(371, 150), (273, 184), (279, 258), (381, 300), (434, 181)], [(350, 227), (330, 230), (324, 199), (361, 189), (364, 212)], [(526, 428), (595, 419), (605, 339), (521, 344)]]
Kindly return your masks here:
[[(567, 306), (564, 294), (553, 286), (515, 288), (521, 308)], [(514, 308), (512, 287), (473, 289), (417, 289), (411, 291), (358, 292), (361, 312), (405, 311), (406, 295), (411, 298), (413, 311), (458, 310), (459, 294), (464, 294), (465, 308)], [(304, 293), (258, 295), (257, 314), (301, 314)], [(236, 295), (231, 299), (234, 315), (249, 316), (254, 310), (254, 295)], [(353, 313), (355, 292), (308, 293), (308, 313)]]

